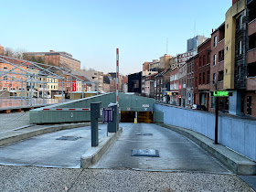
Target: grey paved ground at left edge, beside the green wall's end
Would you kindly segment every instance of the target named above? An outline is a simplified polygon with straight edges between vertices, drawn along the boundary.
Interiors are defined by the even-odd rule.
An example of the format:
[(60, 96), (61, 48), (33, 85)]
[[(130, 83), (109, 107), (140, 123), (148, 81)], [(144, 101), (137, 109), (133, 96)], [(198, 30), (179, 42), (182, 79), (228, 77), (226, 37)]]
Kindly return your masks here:
[(29, 112), (0, 113), (0, 132), (29, 124)]

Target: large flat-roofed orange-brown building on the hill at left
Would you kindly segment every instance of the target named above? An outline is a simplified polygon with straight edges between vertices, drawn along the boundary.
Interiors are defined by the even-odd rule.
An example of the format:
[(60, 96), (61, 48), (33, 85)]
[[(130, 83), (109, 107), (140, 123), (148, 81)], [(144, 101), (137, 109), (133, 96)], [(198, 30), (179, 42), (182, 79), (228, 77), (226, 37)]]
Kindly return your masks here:
[(65, 51), (50, 50), (49, 52), (26, 52), (25, 57), (26, 59), (40, 58), (46, 64), (61, 68), (80, 69), (80, 60), (74, 59), (71, 54)]

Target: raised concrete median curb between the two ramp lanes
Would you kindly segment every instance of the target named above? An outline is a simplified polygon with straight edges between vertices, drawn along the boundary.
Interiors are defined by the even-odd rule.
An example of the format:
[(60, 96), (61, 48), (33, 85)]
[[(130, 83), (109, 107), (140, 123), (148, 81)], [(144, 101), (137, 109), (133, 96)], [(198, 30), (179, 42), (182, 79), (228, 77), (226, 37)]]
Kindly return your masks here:
[(114, 141), (119, 137), (119, 135), (123, 132), (123, 128), (120, 129), (116, 133), (109, 133), (109, 137), (104, 137), (100, 141), (100, 144), (96, 147), (91, 147), (80, 157), (80, 166), (81, 168), (88, 168), (91, 165), (96, 164), (101, 156), (109, 149), (109, 147), (114, 143)]

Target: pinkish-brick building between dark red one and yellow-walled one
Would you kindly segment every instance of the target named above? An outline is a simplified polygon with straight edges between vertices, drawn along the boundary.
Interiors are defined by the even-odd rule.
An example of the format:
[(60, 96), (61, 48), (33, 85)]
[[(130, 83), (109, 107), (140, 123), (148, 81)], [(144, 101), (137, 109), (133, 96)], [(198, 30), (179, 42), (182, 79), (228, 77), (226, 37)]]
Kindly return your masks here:
[[(224, 91), (225, 22), (211, 34), (210, 91)], [(209, 98), (209, 112), (215, 112), (215, 97)], [(229, 98), (219, 98), (219, 110), (229, 111)]]

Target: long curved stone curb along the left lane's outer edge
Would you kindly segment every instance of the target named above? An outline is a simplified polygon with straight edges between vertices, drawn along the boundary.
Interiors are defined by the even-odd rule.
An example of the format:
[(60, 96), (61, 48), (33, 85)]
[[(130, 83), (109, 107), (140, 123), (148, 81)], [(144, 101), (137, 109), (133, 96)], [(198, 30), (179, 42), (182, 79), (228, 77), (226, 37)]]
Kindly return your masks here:
[(73, 129), (73, 128), (78, 128), (78, 127), (83, 127), (83, 126), (89, 126), (91, 123), (73, 123), (73, 124), (64, 124), (64, 125), (55, 125), (55, 126), (49, 126), (49, 127), (42, 127), (37, 130), (29, 131), (27, 133), (18, 133), (16, 132), (16, 135), (12, 136), (7, 136), (3, 139), (0, 139), (0, 146), (5, 145), (5, 144), (12, 144), (21, 140), (25, 140), (40, 134), (44, 133), (51, 133), (51, 132), (56, 132), (59, 130), (65, 130), (65, 129)]

